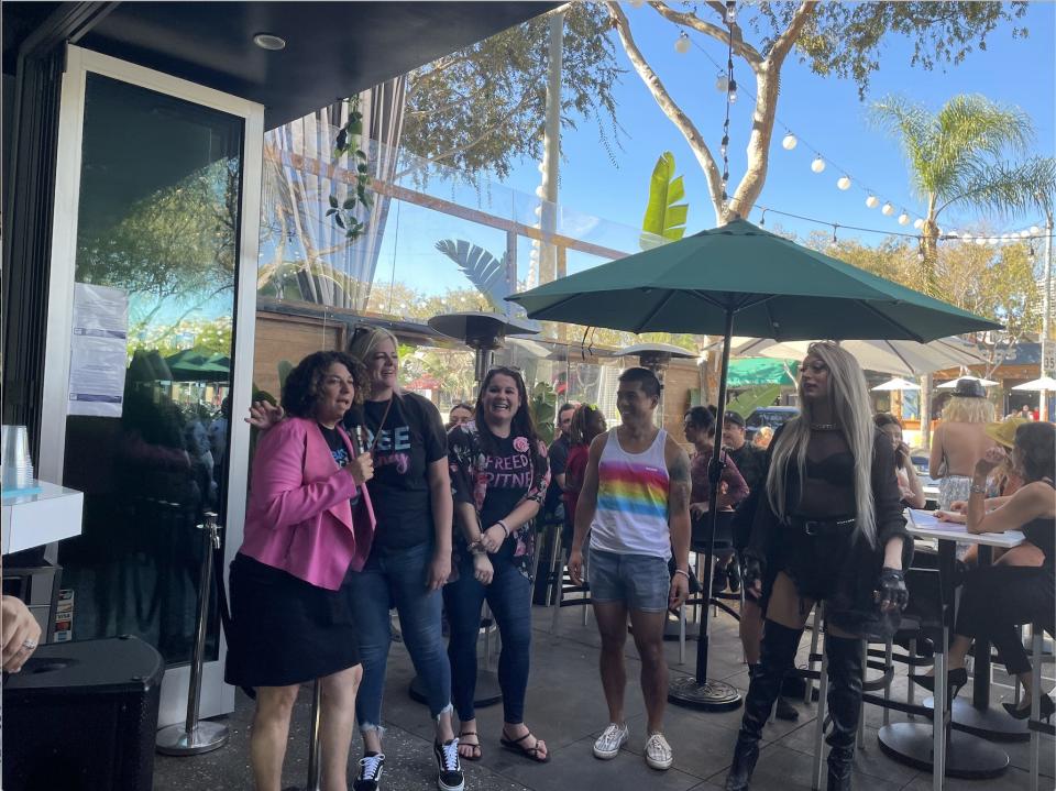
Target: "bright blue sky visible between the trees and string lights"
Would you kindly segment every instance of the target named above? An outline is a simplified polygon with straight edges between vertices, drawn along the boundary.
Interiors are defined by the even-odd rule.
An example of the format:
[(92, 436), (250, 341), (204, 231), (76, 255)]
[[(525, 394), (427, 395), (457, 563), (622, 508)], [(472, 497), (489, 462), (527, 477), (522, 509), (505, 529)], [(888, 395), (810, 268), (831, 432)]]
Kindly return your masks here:
[[(678, 29), (648, 7), (634, 9), (625, 6), (625, 10), (646, 57), (717, 151), (724, 112), (724, 97), (714, 88), (717, 69), (696, 46), (686, 55), (676, 54), (673, 44)], [(980, 92), (990, 99), (1019, 106), (1034, 120), (1036, 153), (1056, 153), (1056, 4), (1032, 2), (1020, 24), (1028, 28), (1027, 39), (1013, 40), (1012, 26), (1003, 25), (988, 37), (985, 52), (977, 50), (961, 64), (936, 67), (932, 72), (911, 67), (910, 44), (904, 39), (889, 35), (880, 55), (881, 68), (872, 76), (866, 102), (859, 100), (853, 81), (818, 77), (798, 63), (793, 53), (782, 72), (778, 119), (795, 132), (801, 142), (794, 151), (784, 151), (780, 144), (784, 132), (780, 125), (776, 127), (770, 171), (759, 202), (827, 222), (892, 232), (912, 231), (912, 226), (900, 227), (894, 219), (903, 206), (914, 217), (914, 210), (922, 208), (912, 195), (902, 155), (897, 143), (870, 128), (866, 118), (869, 101), (892, 92), (922, 101), (933, 110), (961, 92)], [(715, 61), (725, 62), (725, 47), (718, 42), (694, 32), (690, 34)], [(618, 59), (627, 68), (615, 91), (620, 123), (627, 131), (624, 151), (618, 154), (619, 168), (613, 166), (600, 145), (596, 125), (584, 121), (579, 130), (564, 134), (560, 202), (578, 211), (638, 227), (653, 164), (663, 151), (671, 151), (685, 180), (690, 204), (689, 230), (713, 226), (714, 213), (704, 176), (689, 145), (631, 69), (618, 42), (616, 46)], [(738, 83), (754, 94), (755, 80), (744, 62), (735, 58), (734, 70)], [(750, 112), (748, 97), (741, 97), (732, 111), (732, 183), (744, 173)], [(804, 142), (831, 160), (823, 174), (811, 172), (814, 155)], [(832, 162), (847, 168), (855, 183), (849, 190), (837, 189), (836, 179), (842, 173)], [(526, 162), (516, 168), (507, 184), (514, 189), (531, 193), (538, 179), (536, 163)], [(867, 209), (860, 184), (891, 200), (897, 209), (894, 216), (883, 217), (879, 208)], [(758, 218), (759, 212), (754, 211), (751, 219), (758, 221)], [(954, 215), (942, 224), (945, 230), (953, 230), (977, 219), (970, 215)], [(992, 227), (998, 231), (1020, 230), (1037, 219), (1021, 217), (996, 222)], [(768, 215), (768, 226), (774, 222), (800, 235), (822, 228)], [(840, 238), (844, 237), (858, 237), (866, 243), (878, 243), (883, 239), (882, 234), (851, 231), (842, 232)]]

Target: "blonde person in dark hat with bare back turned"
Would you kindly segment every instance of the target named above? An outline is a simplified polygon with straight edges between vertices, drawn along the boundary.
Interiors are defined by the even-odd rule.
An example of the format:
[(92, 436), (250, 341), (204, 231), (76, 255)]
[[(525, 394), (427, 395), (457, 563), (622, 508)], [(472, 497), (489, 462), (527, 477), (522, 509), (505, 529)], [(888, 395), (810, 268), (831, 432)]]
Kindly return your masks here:
[(968, 499), (971, 471), (996, 443), (986, 433), (993, 422), (993, 404), (979, 380), (964, 377), (943, 408), (943, 419), (932, 436), (931, 476), (938, 480), (938, 507), (948, 510)]

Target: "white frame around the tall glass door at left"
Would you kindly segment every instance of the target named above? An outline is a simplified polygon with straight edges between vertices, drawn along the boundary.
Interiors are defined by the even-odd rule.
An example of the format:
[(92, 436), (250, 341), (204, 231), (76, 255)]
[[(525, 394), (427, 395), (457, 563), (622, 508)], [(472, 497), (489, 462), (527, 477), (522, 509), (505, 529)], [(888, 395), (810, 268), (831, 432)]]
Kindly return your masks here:
[[(238, 361), (231, 382), (231, 444), (228, 449), (228, 508), (224, 571), (242, 545), (245, 520), (250, 427), (238, 419), (250, 408), (253, 387), (253, 344), (256, 320), (256, 268), (261, 223), (261, 179), (264, 156), (264, 107), (170, 75), (136, 66), (108, 55), (68, 45), (58, 117), (55, 210), (52, 227), (52, 263), (48, 284), (47, 345), (37, 474), (61, 483), (66, 443), (74, 274), (77, 256), (77, 219), (80, 199), (81, 144), (85, 121), (85, 85), (88, 73), (148, 88), (166, 96), (219, 110), (244, 120), (242, 139), (242, 196), (239, 265), (235, 282), (235, 333), (232, 359)], [(206, 662), (201, 679), (201, 716), (234, 711), (234, 688), (223, 683), (227, 639), (220, 635), (219, 661)], [(187, 708), (189, 666), (168, 668), (162, 684), (158, 726), (182, 722)]]

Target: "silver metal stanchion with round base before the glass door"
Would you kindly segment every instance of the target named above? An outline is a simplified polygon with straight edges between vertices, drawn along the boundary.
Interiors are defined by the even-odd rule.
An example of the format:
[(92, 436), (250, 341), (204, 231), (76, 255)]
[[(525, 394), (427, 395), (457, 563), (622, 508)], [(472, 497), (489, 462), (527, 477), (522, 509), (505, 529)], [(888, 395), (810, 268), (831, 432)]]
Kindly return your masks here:
[(168, 756), (194, 756), (219, 749), (228, 743), (228, 726), (222, 723), (198, 722), (198, 702), (201, 696), (201, 664), (206, 657), (206, 626), (209, 620), (209, 589), (212, 584), (212, 552), (220, 548), (220, 527), (217, 515), (206, 514), (206, 524), (198, 525), (206, 537), (198, 581), (198, 623), (195, 652), (190, 660), (190, 684), (187, 691), (187, 721), (157, 732), (157, 751)]

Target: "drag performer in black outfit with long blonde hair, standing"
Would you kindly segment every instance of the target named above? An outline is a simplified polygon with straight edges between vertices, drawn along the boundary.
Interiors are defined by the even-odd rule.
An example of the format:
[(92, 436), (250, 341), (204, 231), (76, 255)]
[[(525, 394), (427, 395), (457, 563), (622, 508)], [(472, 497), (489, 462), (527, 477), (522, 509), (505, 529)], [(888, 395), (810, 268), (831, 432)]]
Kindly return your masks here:
[(891, 441), (877, 431), (865, 375), (833, 343), (813, 343), (800, 367), (802, 413), (774, 436), (745, 552), (746, 593), (767, 620), (745, 700), (728, 791), (748, 788), (759, 738), (795, 659), (814, 602), (825, 602), (828, 789), (850, 789), (861, 708), (861, 638), (893, 633), (908, 601), (905, 532)]

